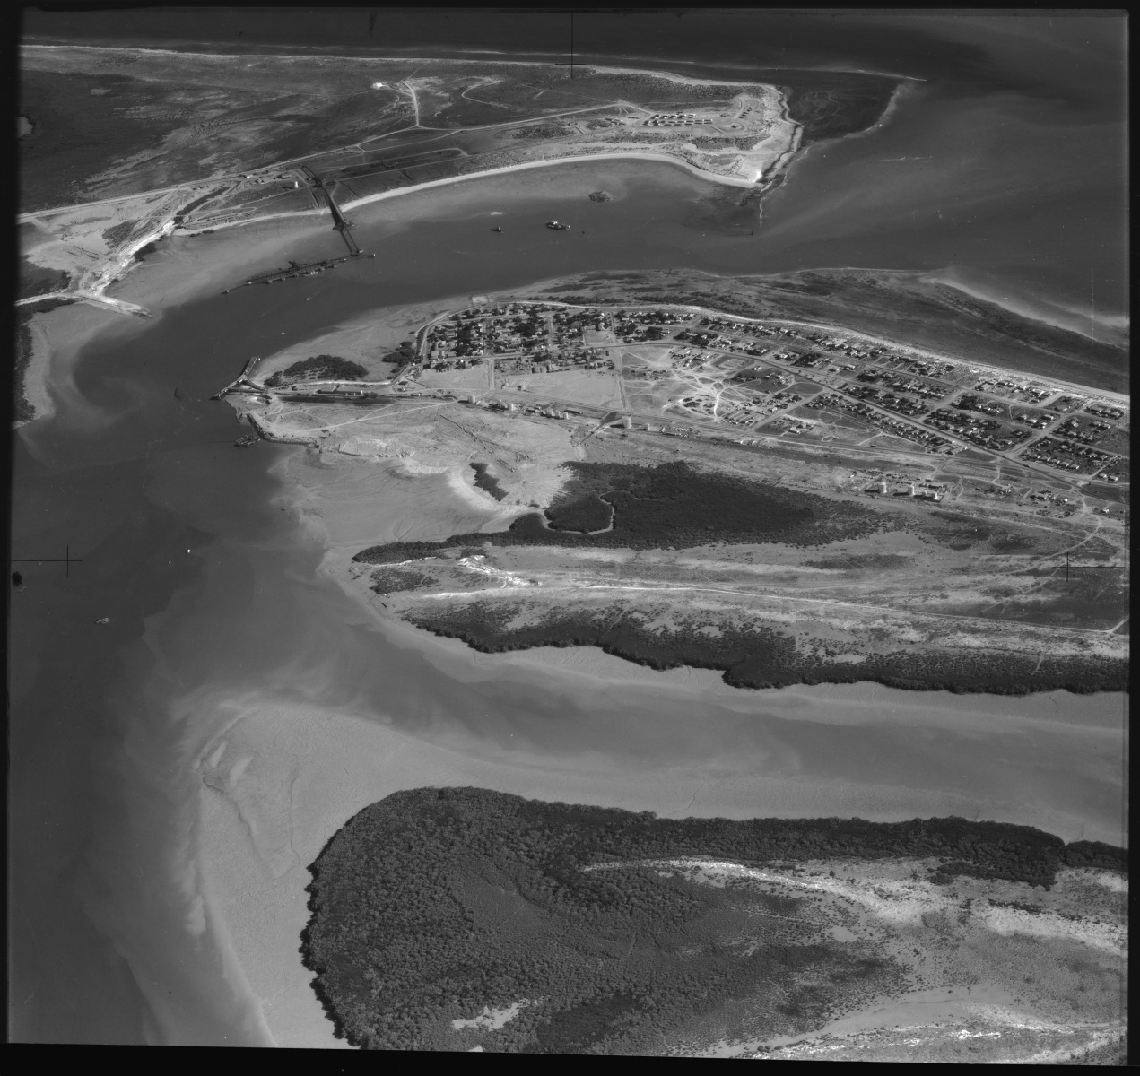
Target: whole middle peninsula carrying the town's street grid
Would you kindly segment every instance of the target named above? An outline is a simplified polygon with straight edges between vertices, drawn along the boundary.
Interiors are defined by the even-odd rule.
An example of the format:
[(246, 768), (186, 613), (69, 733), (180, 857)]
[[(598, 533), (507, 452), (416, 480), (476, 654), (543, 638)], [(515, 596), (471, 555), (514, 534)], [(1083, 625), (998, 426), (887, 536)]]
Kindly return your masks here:
[(1116, 384), (1119, 356), (913, 274), (864, 308), (869, 276), (546, 282), (363, 318), (227, 399), (328, 460), (325, 515), (360, 511), (342, 474), (450, 475), (465, 529), (334, 546), (328, 570), (477, 650), (751, 688), (1122, 690), (1129, 401), (1053, 373), (1083, 352)]

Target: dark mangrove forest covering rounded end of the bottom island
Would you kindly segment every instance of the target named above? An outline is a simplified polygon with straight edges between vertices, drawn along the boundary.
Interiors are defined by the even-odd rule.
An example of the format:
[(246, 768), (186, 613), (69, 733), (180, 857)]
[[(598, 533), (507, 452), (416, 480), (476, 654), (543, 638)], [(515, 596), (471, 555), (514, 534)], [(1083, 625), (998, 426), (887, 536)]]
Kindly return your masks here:
[[(709, 1028), (799, 1034), (898, 988), (899, 969), (834, 942), (806, 898), (646, 861), (888, 857), (936, 861), (936, 883), (1126, 870), (1119, 848), (964, 818), (669, 820), (417, 789), (361, 810), (312, 864), (302, 953), (339, 1034), (372, 1049), (636, 1054)], [(497, 1029), (495, 1010), (511, 1017)]]

